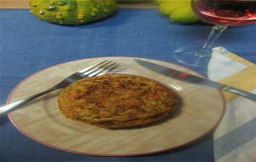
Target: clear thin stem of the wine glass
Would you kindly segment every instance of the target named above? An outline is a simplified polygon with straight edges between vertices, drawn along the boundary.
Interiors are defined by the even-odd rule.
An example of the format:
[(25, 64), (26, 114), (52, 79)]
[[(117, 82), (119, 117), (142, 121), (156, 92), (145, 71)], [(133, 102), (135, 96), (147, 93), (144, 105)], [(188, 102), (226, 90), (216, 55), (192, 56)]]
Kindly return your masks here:
[(216, 40), (226, 28), (227, 26), (213, 26), (212, 32), (208, 36), (207, 42), (203, 45), (201, 50), (207, 53), (211, 52), (213, 44), (216, 42)]

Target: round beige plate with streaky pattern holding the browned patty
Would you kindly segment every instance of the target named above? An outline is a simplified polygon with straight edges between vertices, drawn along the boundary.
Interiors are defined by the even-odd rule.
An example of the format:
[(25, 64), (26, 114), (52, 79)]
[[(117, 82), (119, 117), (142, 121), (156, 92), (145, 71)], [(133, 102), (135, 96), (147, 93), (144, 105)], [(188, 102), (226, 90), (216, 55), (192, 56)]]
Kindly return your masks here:
[[(137, 58), (140, 59), (140, 58)], [(153, 78), (177, 91), (182, 107), (168, 119), (134, 129), (108, 130), (66, 119), (58, 109), (56, 90), (9, 113), (9, 119), (24, 135), (51, 148), (99, 156), (131, 156), (178, 148), (212, 131), (224, 114), (224, 98), (218, 90), (167, 78), (137, 65), (131, 57), (99, 57), (70, 61), (29, 76), (9, 95), (9, 103), (45, 90), (73, 72), (103, 60), (119, 63), (115, 72)], [(142, 59), (195, 75), (168, 62)]]

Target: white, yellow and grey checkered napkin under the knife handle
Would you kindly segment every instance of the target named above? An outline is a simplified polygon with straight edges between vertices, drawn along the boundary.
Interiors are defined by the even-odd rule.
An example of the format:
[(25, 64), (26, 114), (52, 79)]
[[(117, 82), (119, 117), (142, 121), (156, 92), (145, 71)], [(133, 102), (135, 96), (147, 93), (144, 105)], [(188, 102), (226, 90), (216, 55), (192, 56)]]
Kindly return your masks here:
[[(256, 65), (223, 47), (212, 49), (208, 77), (222, 84), (256, 94)], [(256, 161), (256, 102), (223, 92), (227, 101), (224, 118), (214, 132), (217, 162)]]

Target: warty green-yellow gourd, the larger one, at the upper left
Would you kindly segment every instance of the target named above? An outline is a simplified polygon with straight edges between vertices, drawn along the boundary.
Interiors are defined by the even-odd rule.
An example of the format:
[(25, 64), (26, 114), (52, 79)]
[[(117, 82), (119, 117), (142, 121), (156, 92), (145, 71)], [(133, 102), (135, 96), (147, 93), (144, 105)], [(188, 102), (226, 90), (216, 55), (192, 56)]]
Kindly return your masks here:
[(116, 10), (115, 0), (30, 0), (29, 3), (32, 14), (59, 25), (88, 24)]

